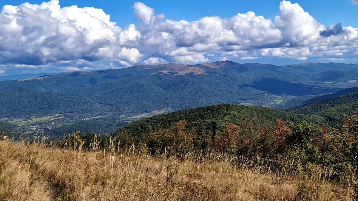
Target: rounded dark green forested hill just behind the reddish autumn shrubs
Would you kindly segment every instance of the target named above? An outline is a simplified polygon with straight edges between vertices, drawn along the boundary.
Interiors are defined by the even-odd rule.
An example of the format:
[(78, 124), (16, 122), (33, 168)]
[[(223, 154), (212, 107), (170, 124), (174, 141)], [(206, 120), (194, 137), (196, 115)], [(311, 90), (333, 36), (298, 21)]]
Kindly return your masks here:
[(153, 117), (141, 119), (127, 126), (122, 127), (113, 135), (127, 133), (132, 136), (142, 136), (144, 133), (158, 131), (159, 129), (169, 128), (174, 123), (185, 120), (188, 127), (197, 127), (205, 129), (221, 129), (229, 123), (237, 123), (244, 118), (257, 118), (262, 122), (276, 121), (282, 119), (300, 123), (303, 121), (322, 124), (324, 118), (320, 116), (309, 116), (303, 114), (293, 114), (266, 107), (241, 106), (236, 104), (219, 104), (214, 106), (185, 109), (169, 114), (158, 114)]

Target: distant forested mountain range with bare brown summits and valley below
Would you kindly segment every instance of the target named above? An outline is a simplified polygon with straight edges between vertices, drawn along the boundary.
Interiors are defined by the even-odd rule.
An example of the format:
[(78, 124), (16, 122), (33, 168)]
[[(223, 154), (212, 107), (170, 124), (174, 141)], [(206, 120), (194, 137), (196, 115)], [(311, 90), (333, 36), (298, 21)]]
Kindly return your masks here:
[(54, 123), (54, 128), (89, 119), (131, 122), (221, 103), (287, 109), (358, 87), (355, 72), (356, 64), (219, 61), (43, 75), (0, 82), (0, 120), (20, 126)]

